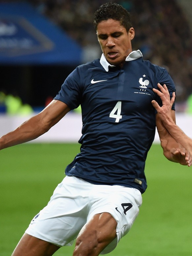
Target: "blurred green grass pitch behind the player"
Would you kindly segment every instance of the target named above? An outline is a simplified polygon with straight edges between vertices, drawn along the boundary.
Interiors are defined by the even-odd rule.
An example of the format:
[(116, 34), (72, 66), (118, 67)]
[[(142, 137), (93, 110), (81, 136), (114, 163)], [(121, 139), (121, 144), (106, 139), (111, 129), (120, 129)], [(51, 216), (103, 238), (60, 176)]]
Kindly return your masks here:
[[(79, 144), (22, 144), (0, 151), (0, 256), (11, 255), (79, 149)], [(192, 167), (169, 162), (153, 144), (145, 174), (140, 214), (108, 255), (192, 256)], [(54, 255), (72, 255), (73, 248)]]

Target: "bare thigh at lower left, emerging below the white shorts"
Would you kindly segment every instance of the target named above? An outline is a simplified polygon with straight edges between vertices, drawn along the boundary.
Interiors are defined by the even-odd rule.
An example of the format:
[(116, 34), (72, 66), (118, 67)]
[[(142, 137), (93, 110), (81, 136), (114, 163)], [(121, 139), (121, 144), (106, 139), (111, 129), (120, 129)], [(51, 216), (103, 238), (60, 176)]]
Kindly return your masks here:
[(36, 237), (24, 234), (12, 256), (51, 256), (60, 247)]

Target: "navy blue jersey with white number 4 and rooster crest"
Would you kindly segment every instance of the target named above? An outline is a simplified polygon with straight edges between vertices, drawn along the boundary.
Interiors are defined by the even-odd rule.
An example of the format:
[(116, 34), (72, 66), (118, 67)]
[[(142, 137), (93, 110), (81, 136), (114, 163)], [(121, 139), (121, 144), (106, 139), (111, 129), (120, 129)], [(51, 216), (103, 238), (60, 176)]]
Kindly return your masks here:
[(165, 83), (172, 96), (175, 85), (166, 69), (142, 57), (108, 71), (96, 59), (68, 76), (54, 99), (71, 109), (81, 105), (82, 136), (80, 153), (66, 175), (145, 191), (145, 160), (156, 127), (151, 101), (161, 105), (152, 90), (158, 82)]

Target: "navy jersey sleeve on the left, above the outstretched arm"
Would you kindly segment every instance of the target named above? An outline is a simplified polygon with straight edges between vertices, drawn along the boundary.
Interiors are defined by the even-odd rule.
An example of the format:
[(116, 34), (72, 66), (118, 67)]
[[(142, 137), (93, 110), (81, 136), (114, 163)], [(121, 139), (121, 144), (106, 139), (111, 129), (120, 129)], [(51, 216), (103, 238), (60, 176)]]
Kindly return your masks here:
[(77, 68), (66, 78), (61, 86), (61, 90), (54, 97), (68, 105), (73, 110), (79, 107), (81, 102), (80, 76)]

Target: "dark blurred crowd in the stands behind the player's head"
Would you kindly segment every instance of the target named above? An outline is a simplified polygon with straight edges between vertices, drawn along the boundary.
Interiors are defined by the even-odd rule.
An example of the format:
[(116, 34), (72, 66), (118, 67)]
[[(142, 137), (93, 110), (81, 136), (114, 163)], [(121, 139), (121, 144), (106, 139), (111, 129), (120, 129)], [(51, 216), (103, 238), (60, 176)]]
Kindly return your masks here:
[(83, 48), (83, 60), (101, 56), (93, 26), (94, 12), (106, 2), (130, 11), (136, 36), (133, 50), (168, 69), (177, 90), (177, 102), (192, 94), (192, 33), (176, 0), (28, 0), (36, 10), (58, 24)]

